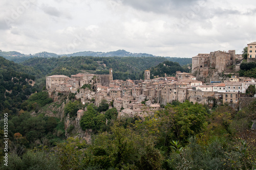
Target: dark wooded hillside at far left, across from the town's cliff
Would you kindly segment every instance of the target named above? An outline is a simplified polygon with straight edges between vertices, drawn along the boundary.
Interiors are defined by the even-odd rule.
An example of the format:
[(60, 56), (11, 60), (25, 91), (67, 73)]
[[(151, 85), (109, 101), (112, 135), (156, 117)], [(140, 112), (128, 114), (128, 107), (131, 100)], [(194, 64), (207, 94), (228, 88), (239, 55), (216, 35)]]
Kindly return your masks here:
[(0, 112), (16, 114), (23, 101), (38, 91), (34, 86), (40, 71), (0, 57)]

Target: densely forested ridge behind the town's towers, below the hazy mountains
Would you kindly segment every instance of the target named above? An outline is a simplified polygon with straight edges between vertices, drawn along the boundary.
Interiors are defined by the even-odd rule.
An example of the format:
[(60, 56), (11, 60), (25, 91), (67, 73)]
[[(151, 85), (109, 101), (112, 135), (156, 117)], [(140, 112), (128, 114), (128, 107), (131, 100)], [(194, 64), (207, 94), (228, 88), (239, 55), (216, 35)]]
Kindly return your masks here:
[[(113, 68), (114, 80), (136, 80), (143, 78), (145, 69), (164, 61), (167, 61), (164, 57), (60, 57), (32, 58), (22, 64), (34, 67), (44, 75), (66, 76), (71, 76), (81, 70), (96, 74), (109, 74), (109, 68)], [(176, 66), (177, 70), (181, 68), (178, 63)]]

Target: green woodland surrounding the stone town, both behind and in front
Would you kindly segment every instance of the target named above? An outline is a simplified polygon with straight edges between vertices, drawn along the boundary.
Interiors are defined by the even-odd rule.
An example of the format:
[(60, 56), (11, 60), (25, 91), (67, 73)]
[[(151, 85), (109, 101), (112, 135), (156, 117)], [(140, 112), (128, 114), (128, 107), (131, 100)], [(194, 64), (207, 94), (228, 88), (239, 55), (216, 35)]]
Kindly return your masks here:
[[(42, 77), (46, 75), (70, 76), (85, 68), (109, 74), (108, 69), (113, 68), (116, 69), (115, 77), (137, 79), (142, 78), (142, 72), (150, 67), (154, 75), (157, 75), (154, 69), (161, 74), (173, 75), (177, 70), (185, 69), (178, 63), (156, 57), (37, 58), (29, 60), (27, 65), (30, 66), (3, 58), (0, 61), (3, 61), (0, 67), (0, 112), (9, 113), (8, 167), (3, 161), (4, 121), (0, 114), (0, 169), (256, 168), (256, 136), (250, 131), (251, 120), (256, 118), (256, 100), (240, 111), (226, 105), (210, 111), (198, 103), (173, 102), (146, 117), (118, 119), (117, 109), (109, 109), (105, 100), (99, 107), (84, 106), (75, 100), (74, 93), (59, 92), (55, 97), (60, 101), (54, 103), (48, 93), (42, 91), (45, 89), (42, 88), (45, 85)], [(242, 65), (242, 68), (243, 74), (255, 69), (252, 64)], [(36, 84), (32, 86), (34, 81)], [(247, 89), (248, 96), (255, 93), (253, 87)], [(65, 130), (65, 118), (62, 121), (56, 118), (61, 117), (56, 115), (59, 110), (65, 116), (69, 115), (70, 121), (75, 120), (77, 110), (84, 107), (87, 108), (80, 119), (80, 127), (87, 133), (92, 132), (91, 143), (78, 137), (67, 139), (66, 133), (78, 135), (72, 134), (74, 125)]]

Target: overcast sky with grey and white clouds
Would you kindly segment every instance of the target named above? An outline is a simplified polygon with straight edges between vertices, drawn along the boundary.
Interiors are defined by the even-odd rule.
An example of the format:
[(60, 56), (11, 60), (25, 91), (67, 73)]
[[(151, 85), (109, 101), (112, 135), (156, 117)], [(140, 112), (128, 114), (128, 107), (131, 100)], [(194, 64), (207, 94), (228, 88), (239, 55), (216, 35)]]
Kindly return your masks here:
[(256, 41), (255, 0), (1, 0), (0, 49), (194, 57)]

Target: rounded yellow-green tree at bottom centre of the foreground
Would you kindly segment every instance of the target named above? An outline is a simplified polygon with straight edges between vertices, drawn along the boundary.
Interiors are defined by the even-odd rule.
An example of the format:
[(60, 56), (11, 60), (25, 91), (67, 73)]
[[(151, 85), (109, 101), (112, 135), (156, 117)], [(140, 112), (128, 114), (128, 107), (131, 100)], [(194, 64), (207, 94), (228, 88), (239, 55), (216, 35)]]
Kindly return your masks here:
[(111, 133), (100, 133), (92, 143), (93, 148), (104, 149), (112, 167), (118, 169), (160, 169), (163, 158), (154, 145), (153, 138), (118, 123), (111, 127)]

